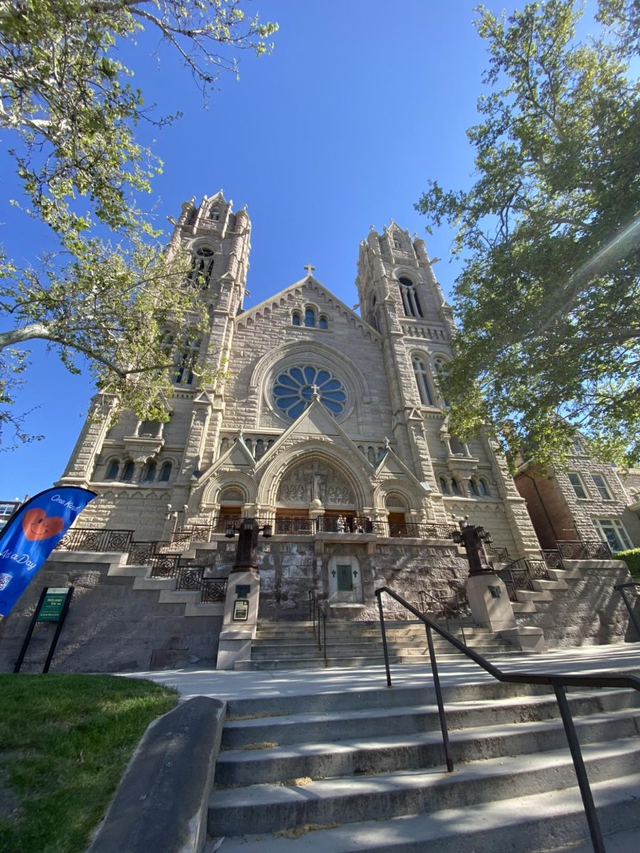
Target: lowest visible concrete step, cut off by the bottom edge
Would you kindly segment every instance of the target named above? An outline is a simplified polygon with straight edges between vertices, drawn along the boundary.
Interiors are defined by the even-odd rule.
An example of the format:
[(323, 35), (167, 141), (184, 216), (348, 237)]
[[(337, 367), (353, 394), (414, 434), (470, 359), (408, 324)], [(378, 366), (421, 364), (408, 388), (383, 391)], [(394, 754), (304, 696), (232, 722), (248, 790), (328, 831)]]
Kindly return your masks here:
[[(457, 771), (456, 771), (457, 772)], [(591, 783), (608, 853), (638, 849), (640, 774)], [(214, 827), (212, 832), (215, 835)], [(315, 831), (309, 831), (315, 830)], [(592, 853), (579, 789), (532, 794), (483, 803), (481, 809), (445, 808), (385, 822), (346, 822), (328, 828), (307, 825), (272, 835), (224, 838), (221, 853)], [(299, 838), (296, 842), (294, 838)], [(205, 846), (214, 853), (219, 838)], [(577, 844), (577, 846), (576, 846)], [(558, 845), (562, 845), (561, 847)]]

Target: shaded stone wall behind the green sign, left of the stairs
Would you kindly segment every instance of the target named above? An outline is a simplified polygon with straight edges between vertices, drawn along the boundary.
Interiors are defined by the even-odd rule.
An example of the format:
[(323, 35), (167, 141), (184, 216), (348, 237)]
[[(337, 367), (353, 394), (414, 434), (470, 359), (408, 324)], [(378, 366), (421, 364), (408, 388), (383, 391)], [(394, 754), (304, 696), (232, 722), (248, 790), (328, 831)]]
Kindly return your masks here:
[[(109, 575), (121, 557), (63, 554), (49, 560), (0, 623), (0, 670), (13, 670), (44, 586), (74, 587), (52, 672), (214, 668), (222, 616), (184, 616), (183, 602), (160, 604), (157, 589), (133, 589), (133, 577)], [(53, 623), (36, 625), (21, 671), (42, 670), (54, 631)]]

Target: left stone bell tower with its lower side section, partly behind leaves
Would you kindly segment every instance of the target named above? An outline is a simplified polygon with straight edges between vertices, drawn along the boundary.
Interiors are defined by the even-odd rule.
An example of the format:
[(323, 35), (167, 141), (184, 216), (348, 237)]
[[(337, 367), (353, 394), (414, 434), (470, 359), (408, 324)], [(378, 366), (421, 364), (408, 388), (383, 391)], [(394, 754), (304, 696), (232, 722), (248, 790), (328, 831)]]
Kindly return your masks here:
[[(96, 395), (61, 484), (85, 485), (100, 496), (84, 514), (111, 525), (153, 519), (150, 535), (162, 535), (166, 506), (182, 508), (199, 473), (211, 464), (224, 416), (224, 373), (230, 361), (234, 323), (247, 293), (251, 223), (245, 208), (234, 212), (222, 190), (184, 202), (168, 252), (190, 255), (184, 287), (195, 287), (207, 307), (207, 331), (193, 340), (166, 397), (166, 423), (141, 422), (128, 411), (113, 421), (117, 401)], [(206, 384), (201, 370), (211, 376)], [(137, 503), (141, 503), (138, 510)], [(155, 528), (158, 528), (157, 531)]]

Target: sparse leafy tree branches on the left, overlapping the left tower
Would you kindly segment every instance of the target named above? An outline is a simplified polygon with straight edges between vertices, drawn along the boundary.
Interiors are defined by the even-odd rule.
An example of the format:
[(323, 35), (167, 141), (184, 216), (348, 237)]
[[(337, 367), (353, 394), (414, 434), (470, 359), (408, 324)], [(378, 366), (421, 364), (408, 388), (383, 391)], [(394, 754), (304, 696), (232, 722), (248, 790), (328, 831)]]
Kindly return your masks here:
[[(137, 202), (161, 170), (137, 142), (137, 123), (172, 120), (145, 109), (116, 58), (143, 27), (204, 92), (237, 73), (227, 48), (265, 53), (277, 29), (245, 19), (241, 0), (8, 0), (0, 9), (0, 129), (26, 212), (59, 245), (24, 269), (0, 256), (0, 314), (15, 325), (0, 333), (0, 351), (45, 339), (73, 372), (86, 357), (119, 404), (164, 419), (184, 348), (207, 334), (208, 318), (201, 294), (185, 286), (189, 258), (165, 254)], [(13, 426), (18, 441), (27, 437), (10, 406), (25, 355), (4, 349), (0, 359), (0, 427)], [(213, 378), (200, 373), (201, 382)]]

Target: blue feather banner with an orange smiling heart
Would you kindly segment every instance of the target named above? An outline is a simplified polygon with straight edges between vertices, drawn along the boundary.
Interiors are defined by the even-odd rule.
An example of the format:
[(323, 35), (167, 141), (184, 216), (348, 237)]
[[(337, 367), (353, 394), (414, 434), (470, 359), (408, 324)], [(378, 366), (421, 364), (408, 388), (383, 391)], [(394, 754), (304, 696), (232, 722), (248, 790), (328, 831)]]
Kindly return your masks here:
[(22, 504), (0, 534), (0, 615), (8, 616), (95, 491), (61, 486)]

